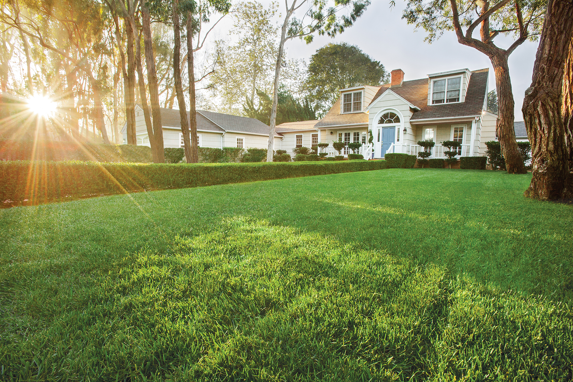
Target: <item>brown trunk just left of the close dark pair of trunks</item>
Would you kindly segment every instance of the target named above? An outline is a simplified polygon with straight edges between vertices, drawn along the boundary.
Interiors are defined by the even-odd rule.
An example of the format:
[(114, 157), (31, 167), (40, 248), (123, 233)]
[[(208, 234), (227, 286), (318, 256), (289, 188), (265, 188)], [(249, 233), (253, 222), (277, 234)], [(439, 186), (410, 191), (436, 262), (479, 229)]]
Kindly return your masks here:
[(145, 2), (142, 2), (142, 30), (143, 42), (145, 44), (147, 84), (149, 86), (151, 113), (153, 114), (154, 145), (151, 147), (156, 152), (155, 155), (158, 163), (165, 163), (163, 126), (161, 121), (161, 111), (159, 109), (159, 90), (157, 89), (157, 71), (155, 70), (155, 57), (153, 56), (153, 44), (151, 40), (151, 21), (149, 8), (146, 6)]

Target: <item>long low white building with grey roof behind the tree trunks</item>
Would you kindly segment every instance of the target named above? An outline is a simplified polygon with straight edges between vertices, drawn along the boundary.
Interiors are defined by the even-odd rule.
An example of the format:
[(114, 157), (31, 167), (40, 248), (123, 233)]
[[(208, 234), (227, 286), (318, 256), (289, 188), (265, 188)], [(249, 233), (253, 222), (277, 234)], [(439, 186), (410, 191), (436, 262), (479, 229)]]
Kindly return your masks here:
[[(163, 126), (163, 146), (183, 147), (179, 110), (160, 108), (160, 111)], [(189, 121), (189, 112), (187, 112), (187, 120)], [(197, 111), (197, 136), (200, 147), (266, 148), (269, 129), (267, 125), (254, 118), (203, 110)], [(127, 124), (123, 125), (121, 133), (123, 134), (123, 141), (126, 143)], [(138, 145), (150, 145), (141, 105), (135, 107), (135, 133)], [(275, 135), (275, 147), (280, 148), (281, 139), (281, 135)]]

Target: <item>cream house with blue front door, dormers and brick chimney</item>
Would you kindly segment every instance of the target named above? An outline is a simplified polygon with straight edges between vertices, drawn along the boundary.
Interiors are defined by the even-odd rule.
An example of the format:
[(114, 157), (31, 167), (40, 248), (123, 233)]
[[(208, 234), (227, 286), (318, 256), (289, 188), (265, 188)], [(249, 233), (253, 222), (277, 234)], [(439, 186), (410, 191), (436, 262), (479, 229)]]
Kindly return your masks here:
[[(325, 149), (337, 155), (332, 141), (359, 142), (365, 159), (386, 153), (417, 155), (419, 140), (433, 140), (431, 156), (443, 158), (445, 140), (459, 141), (460, 156), (483, 156), (485, 142), (496, 138), (497, 115), (486, 111), (488, 69), (459, 69), (404, 81), (404, 72), (391, 72), (390, 84), (340, 89), (340, 97), (323, 119), (278, 125), (282, 148), (331, 143)], [(372, 144), (368, 138), (372, 133)], [(348, 148), (343, 149), (347, 156)]]

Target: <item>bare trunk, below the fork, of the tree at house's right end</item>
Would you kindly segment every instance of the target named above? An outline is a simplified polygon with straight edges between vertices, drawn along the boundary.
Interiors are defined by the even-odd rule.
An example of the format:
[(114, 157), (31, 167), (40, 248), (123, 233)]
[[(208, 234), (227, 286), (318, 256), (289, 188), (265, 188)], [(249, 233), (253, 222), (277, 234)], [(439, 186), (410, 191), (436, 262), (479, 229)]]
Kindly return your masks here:
[(497, 137), (501, 145), (501, 155), (505, 159), (505, 166), (509, 174), (527, 174), (523, 158), (515, 139), (513, 122), (515, 121), (515, 101), (509, 78), (507, 54), (500, 52), (490, 57), (493, 71), (496, 74), (496, 90), (498, 101), (498, 116), (496, 123)]

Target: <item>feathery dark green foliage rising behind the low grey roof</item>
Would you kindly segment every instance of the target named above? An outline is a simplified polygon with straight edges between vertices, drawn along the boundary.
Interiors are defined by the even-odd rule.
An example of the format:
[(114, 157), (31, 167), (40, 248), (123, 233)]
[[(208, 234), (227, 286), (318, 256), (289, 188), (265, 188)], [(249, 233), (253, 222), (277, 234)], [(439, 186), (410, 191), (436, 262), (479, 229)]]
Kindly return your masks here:
[[(258, 107), (255, 107), (249, 99), (246, 99), (243, 106), (243, 114), (246, 117), (258, 119), (262, 123), (270, 125), (270, 110), (273, 107), (273, 99), (261, 90), (257, 90), (257, 96), (259, 98)], [(277, 125), (285, 122), (315, 119), (317, 119), (315, 108), (311, 105), (308, 97), (297, 100), (288, 89), (284, 87), (278, 89), (277, 119), (275, 122)]]

